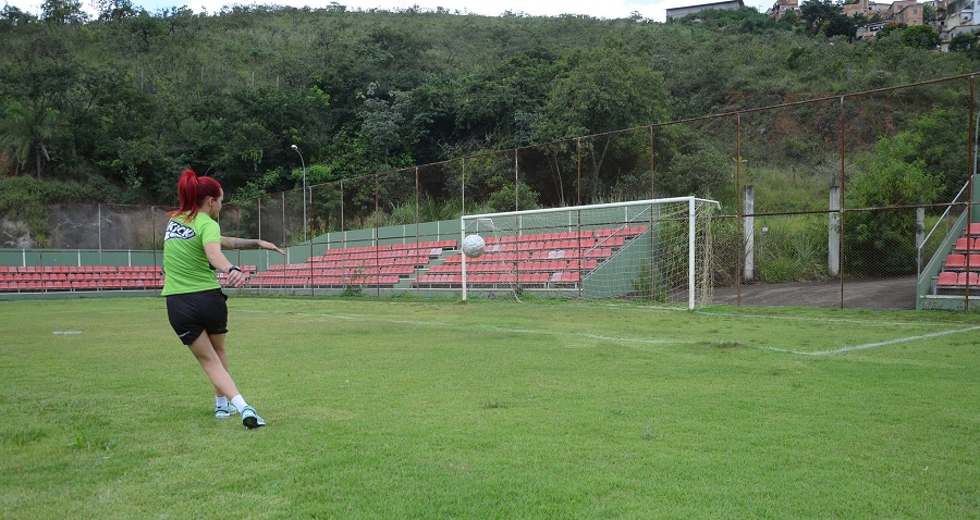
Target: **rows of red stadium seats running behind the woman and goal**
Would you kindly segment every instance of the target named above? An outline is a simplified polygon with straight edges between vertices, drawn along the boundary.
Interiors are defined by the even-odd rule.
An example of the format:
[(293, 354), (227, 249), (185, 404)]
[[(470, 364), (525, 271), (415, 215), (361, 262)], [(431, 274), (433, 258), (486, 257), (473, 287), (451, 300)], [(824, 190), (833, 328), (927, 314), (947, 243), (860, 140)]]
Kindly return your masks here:
[[(646, 231), (646, 226), (628, 226), (487, 237), (487, 252), (467, 259), (467, 283), (487, 288), (516, 283), (528, 288), (575, 288), (615, 251)], [(980, 255), (977, 261), (980, 268)], [(256, 272), (255, 265), (242, 268), (254, 273), (246, 288), (287, 289), (399, 284), (414, 288), (460, 288), (462, 267), (462, 253), (457, 240), (453, 239), (333, 248), (306, 262), (272, 264), (261, 272)], [(943, 277), (943, 282), (947, 280), (948, 276)], [(0, 267), (0, 292), (159, 290), (162, 287), (163, 273), (159, 265)]]

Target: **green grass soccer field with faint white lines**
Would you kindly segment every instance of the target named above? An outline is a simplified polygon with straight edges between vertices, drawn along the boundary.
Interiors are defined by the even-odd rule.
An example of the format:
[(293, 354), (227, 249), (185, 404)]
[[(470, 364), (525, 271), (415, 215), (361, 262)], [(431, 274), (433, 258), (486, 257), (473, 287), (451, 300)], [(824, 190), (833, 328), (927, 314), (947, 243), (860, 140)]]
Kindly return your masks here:
[(978, 518), (980, 317), (232, 297), (0, 302), (3, 518)]

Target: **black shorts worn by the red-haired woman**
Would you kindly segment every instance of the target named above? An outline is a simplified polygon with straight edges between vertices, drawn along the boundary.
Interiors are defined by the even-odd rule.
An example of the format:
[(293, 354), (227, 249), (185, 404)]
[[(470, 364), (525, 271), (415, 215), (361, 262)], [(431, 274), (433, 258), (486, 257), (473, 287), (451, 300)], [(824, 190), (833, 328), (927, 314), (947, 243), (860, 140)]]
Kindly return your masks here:
[(201, 332), (228, 333), (228, 296), (221, 289), (170, 295), (167, 315), (170, 326), (184, 345), (191, 345)]

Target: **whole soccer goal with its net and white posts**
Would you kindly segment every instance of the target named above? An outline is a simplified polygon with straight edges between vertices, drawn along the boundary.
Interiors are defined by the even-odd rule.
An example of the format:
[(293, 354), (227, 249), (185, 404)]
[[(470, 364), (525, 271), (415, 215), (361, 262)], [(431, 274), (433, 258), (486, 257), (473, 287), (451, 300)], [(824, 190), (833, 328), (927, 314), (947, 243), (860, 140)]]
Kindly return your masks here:
[(487, 244), (460, 253), (463, 299), (524, 295), (684, 304), (711, 299), (711, 213), (694, 197), (463, 215), (462, 238)]

